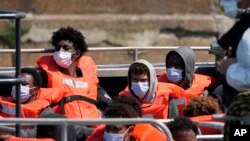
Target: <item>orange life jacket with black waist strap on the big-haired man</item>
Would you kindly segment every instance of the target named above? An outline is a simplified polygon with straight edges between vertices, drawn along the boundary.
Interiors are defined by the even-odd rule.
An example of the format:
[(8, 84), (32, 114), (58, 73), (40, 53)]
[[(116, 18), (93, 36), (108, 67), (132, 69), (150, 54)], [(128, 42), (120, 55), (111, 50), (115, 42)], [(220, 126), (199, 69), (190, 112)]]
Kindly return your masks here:
[(98, 79), (96, 66), (90, 57), (82, 56), (78, 60), (77, 65), (83, 73), (83, 77), (79, 78), (61, 73), (53, 56), (41, 57), (37, 60), (37, 64), (48, 75), (48, 87), (62, 88), (65, 92), (63, 105), (54, 107), (56, 112), (65, 113), (67, 118), (100, 117), (99, 111), (93, 104), (97, 98)]

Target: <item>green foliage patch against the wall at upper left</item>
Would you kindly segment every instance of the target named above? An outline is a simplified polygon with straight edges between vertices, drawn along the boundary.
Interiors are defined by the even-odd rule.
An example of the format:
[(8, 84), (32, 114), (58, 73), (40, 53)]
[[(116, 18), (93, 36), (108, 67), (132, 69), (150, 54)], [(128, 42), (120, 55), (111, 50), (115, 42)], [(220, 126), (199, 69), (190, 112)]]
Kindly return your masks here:
[[(30, 30), (30, 26), (21, 26), (21, 35), (28, 33)], [(8, 48), (15, 48), (15, 23), (11, 22), (6, 24), (0, 30), (0, 42), (3, 45), (8, 46)]]

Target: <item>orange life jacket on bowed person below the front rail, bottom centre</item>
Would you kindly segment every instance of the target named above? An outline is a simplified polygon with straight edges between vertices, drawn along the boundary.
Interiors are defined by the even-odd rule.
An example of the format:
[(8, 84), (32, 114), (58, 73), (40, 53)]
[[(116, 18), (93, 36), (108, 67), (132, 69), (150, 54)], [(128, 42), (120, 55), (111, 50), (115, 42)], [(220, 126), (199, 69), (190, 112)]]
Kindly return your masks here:
[[(86, 141), (104, 141), (105, 125), (98, 126), (86, 139)], [(150, 124), (136, 124), (132, 132), (136, 141), (167, 141), (166, 135)]]

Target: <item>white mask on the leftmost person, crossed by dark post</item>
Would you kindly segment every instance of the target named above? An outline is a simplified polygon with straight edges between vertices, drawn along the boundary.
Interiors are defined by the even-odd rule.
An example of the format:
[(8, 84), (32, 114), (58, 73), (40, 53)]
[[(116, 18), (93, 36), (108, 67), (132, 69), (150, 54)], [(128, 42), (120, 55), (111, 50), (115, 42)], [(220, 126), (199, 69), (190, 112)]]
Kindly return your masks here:
[[(21, 103), (25, 103), (30, 98), (30, 88), (27, 86), (21, 85), (20, 87), (20, 101)], [(16, 100), (16, 86), (12, 87), (11, 97)]]

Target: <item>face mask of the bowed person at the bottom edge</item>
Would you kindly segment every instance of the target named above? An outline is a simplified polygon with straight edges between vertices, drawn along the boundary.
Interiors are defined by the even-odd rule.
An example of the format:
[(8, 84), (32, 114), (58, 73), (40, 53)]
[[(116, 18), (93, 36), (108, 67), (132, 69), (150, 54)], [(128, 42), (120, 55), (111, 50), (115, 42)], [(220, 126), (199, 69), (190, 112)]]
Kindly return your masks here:
[(104, 131), (103, 139), (105, 141), (124, 141), (124, 136), (129, 131), (129, 129), (130, 127), (123, 134), (109, 133), (109, 132)]

